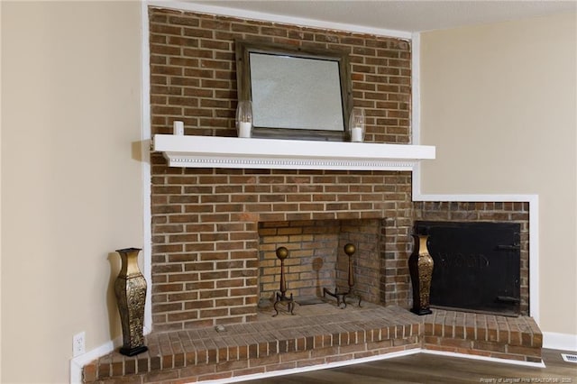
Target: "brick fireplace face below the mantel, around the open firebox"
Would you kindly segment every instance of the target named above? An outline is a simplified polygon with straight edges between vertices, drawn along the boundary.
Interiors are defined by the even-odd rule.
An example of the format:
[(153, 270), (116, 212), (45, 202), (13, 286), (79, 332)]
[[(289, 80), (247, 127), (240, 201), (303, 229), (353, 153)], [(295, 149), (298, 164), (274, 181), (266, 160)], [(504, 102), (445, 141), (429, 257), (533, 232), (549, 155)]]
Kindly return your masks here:
[[(382, 273), (372, 282), (379, 291), (367, 294), (367, 299), (408, 306), (406, 261), (412, 224), (408, 172), (176, 170), (183, 174), (167, 174), (162, 177), (166, 185), (153, 187), (185, 192), (154, 197), (179, 201), (170, 208), (153, 207), (155, 330), (252, 321), (260, 295), (259, 226), (270, 228), (270, 223), (278, 222), (323, 221), (330, 226), (327, 220), (378, 220), (386, 247), (371, 253)], [(283, 224), (279, 225), (282, 233)], [(292, 248), (289, 236), (285, 246)], [(337, 248), (338, 242), (330, 251)], [(296, 285), (289, 283), (291, 288)]]

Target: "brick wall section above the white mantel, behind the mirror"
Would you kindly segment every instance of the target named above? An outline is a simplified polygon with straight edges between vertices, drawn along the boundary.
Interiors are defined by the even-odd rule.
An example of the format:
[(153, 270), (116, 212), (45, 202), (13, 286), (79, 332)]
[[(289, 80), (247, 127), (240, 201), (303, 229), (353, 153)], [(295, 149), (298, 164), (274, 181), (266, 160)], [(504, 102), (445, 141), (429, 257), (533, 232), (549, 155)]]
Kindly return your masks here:
[(409, 142), (410, 44), (352, 32), (151, 8), (152, 133), (235, 136), (234, 39), (348, 51), (369, 142)]

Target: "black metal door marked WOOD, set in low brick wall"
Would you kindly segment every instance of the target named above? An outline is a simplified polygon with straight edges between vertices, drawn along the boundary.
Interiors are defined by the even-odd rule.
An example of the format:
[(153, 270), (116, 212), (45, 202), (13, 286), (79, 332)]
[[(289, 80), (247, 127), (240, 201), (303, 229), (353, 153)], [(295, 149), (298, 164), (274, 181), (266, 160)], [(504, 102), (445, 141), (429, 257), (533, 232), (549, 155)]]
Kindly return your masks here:
[(520, 224), (417, 221), (435, 266), (431, 306), (519, 315)]

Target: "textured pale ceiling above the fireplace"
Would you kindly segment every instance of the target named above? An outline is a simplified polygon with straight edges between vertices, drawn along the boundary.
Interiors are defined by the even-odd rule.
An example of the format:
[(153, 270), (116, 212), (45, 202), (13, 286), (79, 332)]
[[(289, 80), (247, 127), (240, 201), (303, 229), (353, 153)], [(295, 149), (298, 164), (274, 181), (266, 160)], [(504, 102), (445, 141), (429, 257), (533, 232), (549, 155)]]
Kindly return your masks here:
[(188, 1), (326, 23), (423, 32), (576, 12), (577, 1)]

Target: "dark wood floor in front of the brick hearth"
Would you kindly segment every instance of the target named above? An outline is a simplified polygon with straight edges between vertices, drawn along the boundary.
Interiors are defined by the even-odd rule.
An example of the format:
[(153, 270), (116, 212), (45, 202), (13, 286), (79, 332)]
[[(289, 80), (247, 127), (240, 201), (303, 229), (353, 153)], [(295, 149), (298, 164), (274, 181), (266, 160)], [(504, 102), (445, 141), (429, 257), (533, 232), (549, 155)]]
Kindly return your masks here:
[[(243, 381), (245, 384), (372, 383), (575, 383), (577, 363), (563, 361), (561, 351), (543, 350), (546, 368), (427, 353)], [(575, 352), (568, 352), (575, 354)]]

